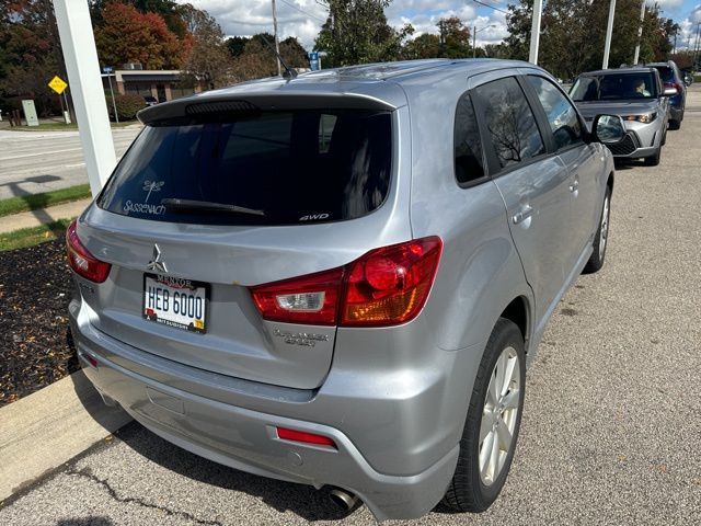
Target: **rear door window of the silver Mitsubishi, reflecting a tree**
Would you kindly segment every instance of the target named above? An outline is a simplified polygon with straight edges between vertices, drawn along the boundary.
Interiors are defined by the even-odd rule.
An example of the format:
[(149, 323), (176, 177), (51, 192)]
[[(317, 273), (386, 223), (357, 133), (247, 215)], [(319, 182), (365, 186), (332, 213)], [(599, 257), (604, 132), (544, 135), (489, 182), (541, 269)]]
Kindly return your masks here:
[(474, 91), (484, 103), (484, 117), (501, 168), (545, 152), (533, 112), (516, 79), (487, 82)]

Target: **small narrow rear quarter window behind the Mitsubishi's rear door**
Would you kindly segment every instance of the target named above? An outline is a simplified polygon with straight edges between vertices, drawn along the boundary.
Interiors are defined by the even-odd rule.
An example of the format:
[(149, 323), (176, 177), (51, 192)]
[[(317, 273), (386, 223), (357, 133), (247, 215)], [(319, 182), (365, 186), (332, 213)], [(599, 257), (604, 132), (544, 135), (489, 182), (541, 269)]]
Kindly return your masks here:
[(453, 141), (458, 183), (470, 183), (483, 178), (482, 140), (468, 93), (458, 101)]

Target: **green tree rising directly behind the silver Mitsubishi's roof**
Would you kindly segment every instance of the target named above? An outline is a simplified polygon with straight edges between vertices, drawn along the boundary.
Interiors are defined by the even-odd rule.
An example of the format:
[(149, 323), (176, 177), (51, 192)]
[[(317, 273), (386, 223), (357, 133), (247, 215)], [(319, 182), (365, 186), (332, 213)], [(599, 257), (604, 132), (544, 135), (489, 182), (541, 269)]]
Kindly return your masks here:
[(395, 31), (387, 23), (384, 8), (391, 0), (329, 0), (329, 18), (314, 41), (314, 49), (327, 53), (330, 67), (397, 60), (414, 28)]

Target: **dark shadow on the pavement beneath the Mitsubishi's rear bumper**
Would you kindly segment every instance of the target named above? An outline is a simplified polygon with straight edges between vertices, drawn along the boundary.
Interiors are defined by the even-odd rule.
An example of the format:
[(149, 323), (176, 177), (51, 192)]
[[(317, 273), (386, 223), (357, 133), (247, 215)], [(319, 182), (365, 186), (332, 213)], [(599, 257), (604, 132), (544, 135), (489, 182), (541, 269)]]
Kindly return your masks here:
[(134, 422), (115, 436), (139, 455), (188, 479), (225, 490), (248, 493), (283, 513), (292, 512), (304, 521), (338, 521), (347, 514), (329, 499), (326, 489), (283, 482), (222, 466), (164, 441)]

